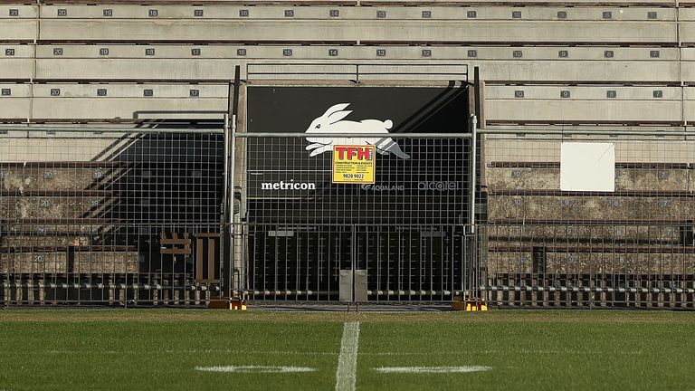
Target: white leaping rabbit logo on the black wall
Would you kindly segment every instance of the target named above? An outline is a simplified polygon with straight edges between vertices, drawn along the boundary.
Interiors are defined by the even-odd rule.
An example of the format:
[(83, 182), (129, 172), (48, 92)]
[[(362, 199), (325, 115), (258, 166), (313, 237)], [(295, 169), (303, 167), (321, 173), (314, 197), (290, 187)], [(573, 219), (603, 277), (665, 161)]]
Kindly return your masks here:
[[(352, 110), (345, 110), (350, 104), (340, 103), (331, 106), (322, 116), (314, 119), (306, 133), (386, 133), (394, 126), (391, 119), (380, 121), (378, 119), (363, 119), (359, 122), (340, 120), (348, 116)], [(307, 138), (311, 143), (307, 150), (311, 151), (309, 157), (315, 157), (324, 152), (333, 150), (334, 145), (373, 145), (376, 152), (382, 155), (394, 154), (403, 159), (410, 158), (408, 154), (398, 147), (392, 138)]]

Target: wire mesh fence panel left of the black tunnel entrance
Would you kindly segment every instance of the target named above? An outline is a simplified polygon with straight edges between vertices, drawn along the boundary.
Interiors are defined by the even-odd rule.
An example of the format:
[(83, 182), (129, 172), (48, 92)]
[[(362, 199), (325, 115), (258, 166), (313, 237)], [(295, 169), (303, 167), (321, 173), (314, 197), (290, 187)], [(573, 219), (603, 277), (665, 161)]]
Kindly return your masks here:
[(0, 301), (196, 305), (219, 294), (223, 133), (2, 130)]

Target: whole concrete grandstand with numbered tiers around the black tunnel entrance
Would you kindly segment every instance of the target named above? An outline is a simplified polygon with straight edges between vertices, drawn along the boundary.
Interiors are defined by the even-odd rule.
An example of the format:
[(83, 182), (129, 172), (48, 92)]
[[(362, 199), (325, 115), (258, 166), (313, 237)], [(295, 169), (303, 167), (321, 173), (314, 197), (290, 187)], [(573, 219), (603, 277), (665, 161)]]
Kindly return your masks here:
[[(243, 133), (247, 86), (465, 86), (477, 67), (481, 263), (471, 273), (481, 278), (471, 291), (502, 305), (692, 307), (693, 5), (2, 0), (0, 300), (194, 305), (225, 289), (334, 300), (278, 284), (277, 271), (244, 292), (247, 250), (265, 251), (239, 244), (244, 233), (237, 263), (221, 265), (233, 254), (220, 219), (243, 218), (221, 205), (248, 196), (247, 140), (224, 158), (230, 97)], [(615, 143), (615, 192), (560, 190), (567, 139)], [(190, 237), (160, 236), (177, 232)], [(221, 274), (237, 280), (225, 288)], [(466, 295), (412, 276), (418, 287), (368, 280), (367, 297)]]

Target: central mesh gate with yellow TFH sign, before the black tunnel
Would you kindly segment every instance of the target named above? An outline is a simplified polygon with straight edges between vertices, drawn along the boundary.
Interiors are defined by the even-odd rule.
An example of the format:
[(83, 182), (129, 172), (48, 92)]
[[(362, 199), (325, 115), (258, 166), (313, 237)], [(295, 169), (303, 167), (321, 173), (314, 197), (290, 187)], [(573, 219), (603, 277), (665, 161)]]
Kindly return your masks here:
[[(375, 139), (359, 145), (366, 137)], [(248, 299), (452, 300), (475, 286), (464, 283), (473, 281), (464, 267), (471, 135), (234, 138), (243, 153), (234, 264)], [(314, 144), (330, 148), (310, 156)], [(345, 163), (344, 147), (371, 152)]]

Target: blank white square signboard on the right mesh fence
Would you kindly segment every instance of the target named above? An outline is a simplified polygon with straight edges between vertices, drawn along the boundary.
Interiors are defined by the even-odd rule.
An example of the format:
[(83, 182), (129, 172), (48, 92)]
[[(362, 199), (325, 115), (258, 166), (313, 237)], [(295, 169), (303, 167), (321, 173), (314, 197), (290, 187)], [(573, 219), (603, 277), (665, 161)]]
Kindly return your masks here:
[(615, 191), (615, 144), (565, 142), (560, 148), (560, 190)]

